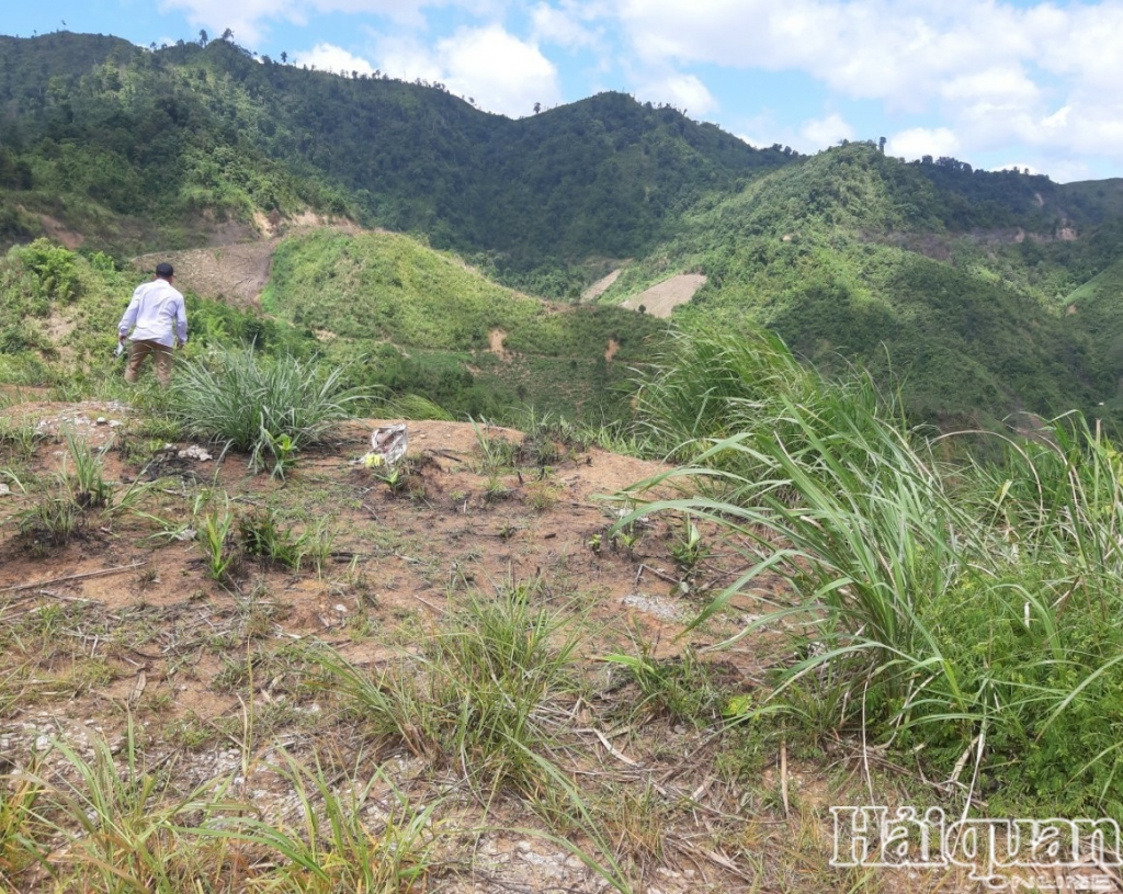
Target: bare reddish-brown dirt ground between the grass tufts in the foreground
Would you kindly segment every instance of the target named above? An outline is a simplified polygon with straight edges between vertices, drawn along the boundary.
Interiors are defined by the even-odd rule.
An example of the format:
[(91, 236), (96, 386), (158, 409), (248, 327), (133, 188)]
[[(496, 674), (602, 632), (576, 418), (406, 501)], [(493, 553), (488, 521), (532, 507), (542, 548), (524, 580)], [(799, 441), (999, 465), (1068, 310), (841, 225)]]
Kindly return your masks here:
[[(605, 663), (608, 654), (668, 668), (701, 660), (725, 697), (751, 697), (768, 668), (789, 657), (776, 630), (700, 651), (758, 617), (747, 596), (684, 635), (747, 566), (743, 545), (704, 530), (712, 546), (691, 574), (672, 555), (683, 537), (678, 519), (657, 518), (633, 529), (634, 542), (613, 545), (609, 527), (634, 504), (621, 493), (663, 472), (659, 464), (550, 445), (551, 462), (539, 465), (530, 457), (542, 445), (529, 453), (524, 445), (521, 462), (496, 472), (487, 451), (520, 444), (519, 432), (409, 422), (407, 474), (392, 487), (357, 462), (382, 423), (362, 420), (302, 454), (285, 478), (271, 478), (241, 455), (181, 455), (191, 445), (161, 443), (126, 405), (26, 396), (0, 410), (6, 430), (24, 431), (31, 445), (19, 453), (10, 438), (0, 455), (8, 469), (0, 478), (0, 774), (30, 761), (64, 769), (57, 741), (86, 757), (98, 740), (119, 750), (131, 718), (145, 760), (174, 768), (180, 785), (229, 775), (239, 796), (283, 818), (299, 804), (272, 769), (279, 749), (335, 755), (362, 772), (377, 758), (410, 799), (439, 794), (447, 822), (489, 830), (451, 839), (444, 870), (424, 891), (602, 891), (605, 879), (572, 849), (527, 831), (541, 821), (518, 794), (481, 804), (455, 768), (365, 740), (309, 695), (294, 669), (292, 656), (314, 644), (377, 675), (423, 649), (473, 595), (526, 586), (544, 606), (570, 613), (583, 633), (587, 694), (553, 709), (565, 742), (558, 760), (596, 805), (632, 890), (975, 890), (946, 873), (862, 882), (829, 865), (829, 806), (852, 803), (838, 799), (861, 785), (847, 748), (788, 756), (767, 746), (761, 757), (754, 752), (760, 744), (723, 731), (720, 715), (695, 727), (640, 710), (639, 692)], [(45, 492), (34, 481), (73, 472), (67, 432), (103, 451), (112, 498), (83, 513), (69, 545), (53, 546), (21, 530), (21, 519)], [(143, 500), (130, 502), (137, 489)], [(317, 532), (320, 567), (244, 557), (214, 580), (202, 522), (207, 507), (220, 505), (238, 519), (268, 510), (293, 531)], [(784, 597), (777, 578), (756, 586)]]

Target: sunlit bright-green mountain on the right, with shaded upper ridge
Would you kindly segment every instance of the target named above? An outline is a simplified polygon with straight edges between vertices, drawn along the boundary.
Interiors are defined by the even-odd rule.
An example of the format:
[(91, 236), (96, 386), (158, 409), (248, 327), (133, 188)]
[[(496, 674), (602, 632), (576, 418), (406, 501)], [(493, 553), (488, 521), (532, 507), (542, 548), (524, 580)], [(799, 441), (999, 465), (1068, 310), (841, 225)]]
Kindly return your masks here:
[(852, 144), (696, 207), (604, 300), (701, 273), (684, 322), (767, 326), (827, 368), (892, 371), (921, 418), (1088, 408), (1114, 398), (1123, 367), (1105, 320), (1066, 314), (1083, 279), (1123, 257), (1121, 185), (907, 165)]

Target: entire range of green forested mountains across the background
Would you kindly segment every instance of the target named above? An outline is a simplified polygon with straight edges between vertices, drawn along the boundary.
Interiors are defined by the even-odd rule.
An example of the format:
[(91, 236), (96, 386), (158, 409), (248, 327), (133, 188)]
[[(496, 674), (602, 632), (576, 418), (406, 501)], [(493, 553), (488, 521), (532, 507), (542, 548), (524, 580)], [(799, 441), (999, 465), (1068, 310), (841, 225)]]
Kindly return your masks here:
[[(441, 84), (304, 71), (223, 40), (0, 37), (0, 243), (47, 234), (121, 256), (255, 238), (309, 211), (413, 234), (547, 298), (576, 299), (613, 268), (604, 304), (703, 274), (674, 312), (682, 325), (765, 326), (827, 370), (864, 364), (901, 383), (919, 419), (1114, 419), (1123, 404), (1123, 181), (906, 164), (871, 143), (810, 158), (758, 150), (618, 93), (511, 120)], [(475, 375), (472, 352), (499, 328), (549, 364), (604, 363), (606, 344), (628, 341), (622, 318), (595, 314), (559, 317), (544, 336), (524, 305), (481, 304), (495, 288), (482, 280), (431, 303), (408, 270), (451, 282), (422, 274), (430, 262), (418, 244), (296, 240), (277, 253), (267, 305), (411, 362), (459, 353), (430, 394), (463, 392), (450, 376)], [(441, 363), (403, 367), (399, 382)], [(549, 364), (536, 382), (567, 381)], [(504, 374), (496, 393), (550, 393)]]

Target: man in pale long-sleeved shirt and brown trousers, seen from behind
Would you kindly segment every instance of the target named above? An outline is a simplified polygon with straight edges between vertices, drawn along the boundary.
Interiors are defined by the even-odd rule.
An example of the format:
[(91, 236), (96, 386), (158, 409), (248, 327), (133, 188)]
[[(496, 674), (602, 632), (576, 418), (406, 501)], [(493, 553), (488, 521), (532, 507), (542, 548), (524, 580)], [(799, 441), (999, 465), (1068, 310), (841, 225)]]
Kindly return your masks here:
[(157, 264), (155, 279), (137, 286), (125, 316), (117, 325), (118, 341), (122, 345), (129, 330), (133, 330), (133, 347), (125, 367), (126, 382), (137, 381), (140, 364), (149, 354), (156, 364), (159, 384), (166, 385), (172, 381), (172, 345), (182, 348), (188, 343), (188, 313), (183, 295), (172, 286), (174, 276), (171, 264)]

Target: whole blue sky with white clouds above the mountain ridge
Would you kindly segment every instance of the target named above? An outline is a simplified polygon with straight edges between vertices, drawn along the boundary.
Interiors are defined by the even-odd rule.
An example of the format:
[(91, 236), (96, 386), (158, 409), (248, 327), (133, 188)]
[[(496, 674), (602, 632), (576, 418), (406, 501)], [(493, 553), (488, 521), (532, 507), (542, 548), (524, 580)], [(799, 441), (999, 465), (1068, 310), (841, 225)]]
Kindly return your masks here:
[(0, 33), (210, 37), (440, 81), (511, 117), (602, 90), (804, 153), (886, 137), (1068, 182), (1123, 176), (1123, 0), (42, 0)]

